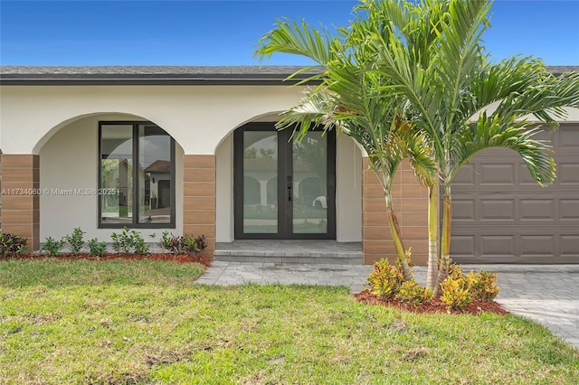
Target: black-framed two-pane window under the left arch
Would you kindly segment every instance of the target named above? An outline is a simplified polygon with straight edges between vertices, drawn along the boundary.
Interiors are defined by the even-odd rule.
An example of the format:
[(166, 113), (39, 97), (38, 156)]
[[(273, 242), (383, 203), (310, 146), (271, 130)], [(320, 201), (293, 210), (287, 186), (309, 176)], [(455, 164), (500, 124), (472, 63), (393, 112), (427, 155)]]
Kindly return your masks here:
[(99, 227), (175, 227), (175, 141), (150, 122), (99, 123)]

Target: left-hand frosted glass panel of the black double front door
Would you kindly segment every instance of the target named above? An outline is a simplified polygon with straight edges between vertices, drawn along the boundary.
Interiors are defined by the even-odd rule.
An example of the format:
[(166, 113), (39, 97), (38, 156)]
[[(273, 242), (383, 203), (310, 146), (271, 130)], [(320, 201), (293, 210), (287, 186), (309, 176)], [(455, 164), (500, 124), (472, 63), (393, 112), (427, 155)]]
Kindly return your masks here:
[(278, 133), (243, 132), (243, 233), (278, 232)]

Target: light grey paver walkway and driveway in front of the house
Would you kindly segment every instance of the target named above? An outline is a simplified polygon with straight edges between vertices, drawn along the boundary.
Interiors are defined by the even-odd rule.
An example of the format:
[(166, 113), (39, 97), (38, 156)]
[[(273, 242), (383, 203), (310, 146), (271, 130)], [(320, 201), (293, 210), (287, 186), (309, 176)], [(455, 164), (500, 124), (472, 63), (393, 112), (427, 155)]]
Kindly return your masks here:
[[(509, 312), (545, 325), (555, 335), (579, 348), (579, 265), (462, 265), (465, 272), (498, 273), (499, 304)], [(349, 286), (361, 291), (371, 266), (300, 265), (269, 262), (214, 261), (197, 283), (204, 285), (303, 284)], [(413, 268), (424, 285), (426, 268)]]

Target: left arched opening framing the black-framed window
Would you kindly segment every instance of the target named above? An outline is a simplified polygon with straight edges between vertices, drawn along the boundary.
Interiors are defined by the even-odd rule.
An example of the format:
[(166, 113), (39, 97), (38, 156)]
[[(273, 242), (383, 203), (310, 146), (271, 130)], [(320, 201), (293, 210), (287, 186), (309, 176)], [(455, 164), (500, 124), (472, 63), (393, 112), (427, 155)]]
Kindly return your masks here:
[(130, 114), (71, 118), (39, 155), (41, 239), (81, 227), (110, 241), (124, 226), (147, 239), (181, 227), (183, 149), (164, 127)]

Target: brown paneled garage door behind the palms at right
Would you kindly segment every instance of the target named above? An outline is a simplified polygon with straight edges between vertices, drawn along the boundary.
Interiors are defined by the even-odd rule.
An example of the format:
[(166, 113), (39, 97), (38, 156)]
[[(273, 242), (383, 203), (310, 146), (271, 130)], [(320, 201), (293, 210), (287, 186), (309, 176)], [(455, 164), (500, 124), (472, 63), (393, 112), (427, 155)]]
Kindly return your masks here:
[(579, 263), (579, 125), (550, 138), (557, 178), (541, 188), (516, 153), (474, 156), (452, 184), (451, 256), (459, 263)]

